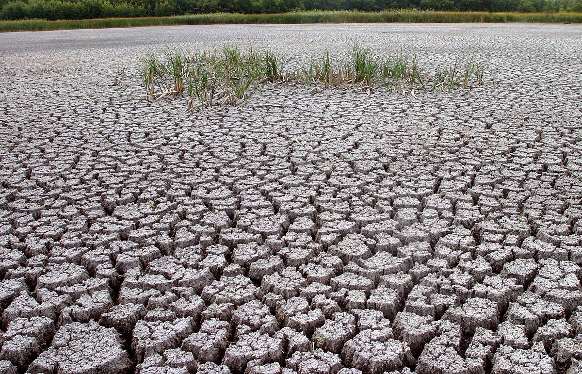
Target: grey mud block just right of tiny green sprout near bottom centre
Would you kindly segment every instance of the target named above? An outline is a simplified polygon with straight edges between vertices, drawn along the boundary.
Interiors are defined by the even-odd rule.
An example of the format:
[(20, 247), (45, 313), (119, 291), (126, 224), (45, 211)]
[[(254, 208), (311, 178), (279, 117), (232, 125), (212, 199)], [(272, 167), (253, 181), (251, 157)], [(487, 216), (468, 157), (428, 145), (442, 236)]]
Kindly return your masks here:
[(343, 344), (355, 334), (356, 318), (345, 312), (336, 312), (332, 319), (326, 320), (323, 326), (315, 330), (311, 340), (315, 347), (339, 354)]

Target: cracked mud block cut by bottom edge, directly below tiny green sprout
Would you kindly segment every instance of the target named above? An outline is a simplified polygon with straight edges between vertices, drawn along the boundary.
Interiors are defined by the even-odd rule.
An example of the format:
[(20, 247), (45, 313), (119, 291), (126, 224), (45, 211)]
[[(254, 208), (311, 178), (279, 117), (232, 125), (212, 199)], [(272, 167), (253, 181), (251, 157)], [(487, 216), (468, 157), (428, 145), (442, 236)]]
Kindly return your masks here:
[(321, 348), (308, 352), (295, 352), (285, 360), (285, 366), (298, 374), (336, 374), (342, 369), (338, 355)]

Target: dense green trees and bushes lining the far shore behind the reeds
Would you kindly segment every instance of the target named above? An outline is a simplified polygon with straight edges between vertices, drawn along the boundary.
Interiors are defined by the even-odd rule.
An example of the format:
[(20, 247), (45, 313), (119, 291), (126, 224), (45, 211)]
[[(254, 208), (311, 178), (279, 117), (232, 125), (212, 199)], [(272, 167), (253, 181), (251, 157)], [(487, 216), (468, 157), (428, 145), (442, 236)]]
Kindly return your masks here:
[(87, 19), (187, 13), (282, 13), (290, 10), (385, 9), (486, 12), (582, 11), (582, 0), (0, 0), (0, 19)]

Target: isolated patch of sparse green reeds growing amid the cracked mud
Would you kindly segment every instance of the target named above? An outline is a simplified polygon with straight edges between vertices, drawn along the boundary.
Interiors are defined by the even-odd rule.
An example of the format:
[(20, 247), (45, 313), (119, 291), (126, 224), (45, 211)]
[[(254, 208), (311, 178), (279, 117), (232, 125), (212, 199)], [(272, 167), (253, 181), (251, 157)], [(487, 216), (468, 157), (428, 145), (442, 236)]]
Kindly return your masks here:
[(421, 90), (471, 89), (484, 84), (487, 64), (457, 59), (453, 65), (433, 70), (431, 75), (422, 69), (416, 55), (403, 51), (378, 55), (355, 43), (339, 58), (324, 52), (291, 70), (278, 52), (254, 48), (243, 52), (235, 44), (226, 44), (193, 53), (169, 47), (149, 51), (141, 59), (140, 76), (148, 101), (186, 95), (191, 111), (239, 104), (264, 84), (317, 84), (327, 89), (361, 90), (368, 96), (375, 87), (386, 87), (405, 97), (416, 97)]

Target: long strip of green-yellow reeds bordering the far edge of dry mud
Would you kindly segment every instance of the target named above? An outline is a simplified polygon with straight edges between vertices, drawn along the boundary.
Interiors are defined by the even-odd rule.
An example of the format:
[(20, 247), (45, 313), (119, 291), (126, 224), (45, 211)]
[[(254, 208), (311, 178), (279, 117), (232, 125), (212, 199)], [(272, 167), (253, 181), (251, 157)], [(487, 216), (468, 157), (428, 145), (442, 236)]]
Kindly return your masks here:
[(87, 20), (17, 20), (0, 21), (0, 31), (41, 31), (69, 29), (105, 29), (108, 27), (165, 26), (175, 24), (237, 23), (459, 23), (459, 22), (529, 22), (582, 23), (582, 13), (488, 13), (435, 12), (432, 10), (394, 10), (386, 12), (290, 12), (244, 15), (215, 13), (171, 17), (105, 18)]

